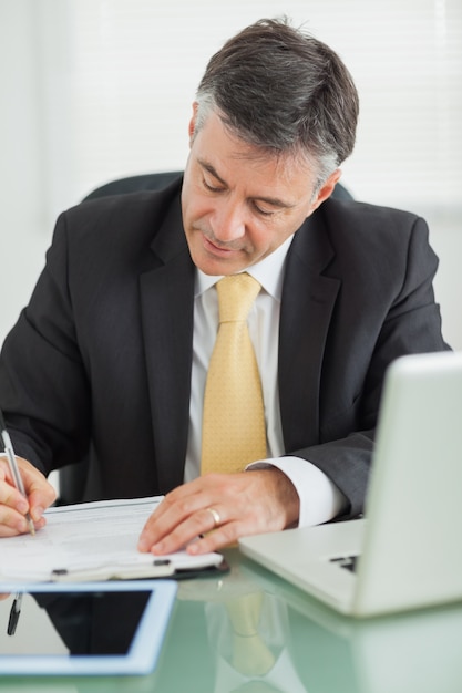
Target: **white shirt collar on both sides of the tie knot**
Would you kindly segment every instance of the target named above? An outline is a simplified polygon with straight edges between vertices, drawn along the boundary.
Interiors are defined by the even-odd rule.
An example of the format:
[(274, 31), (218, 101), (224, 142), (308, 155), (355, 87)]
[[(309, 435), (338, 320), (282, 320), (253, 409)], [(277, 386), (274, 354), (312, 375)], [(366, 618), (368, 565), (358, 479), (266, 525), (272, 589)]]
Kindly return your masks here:
[[(289, 236), (289, 238), (268, 255), (268, 257), (244, 270), (251, 275), (251, 277), (261, 285), (265, 291), (278, 301), (280, 301), (283, 293), (284, 265), (292, 239), (294, 235)], [(222, 277), (205, 275), (202, 270), (196, 268), (195, 298), (215, 286), (220, 279)]]

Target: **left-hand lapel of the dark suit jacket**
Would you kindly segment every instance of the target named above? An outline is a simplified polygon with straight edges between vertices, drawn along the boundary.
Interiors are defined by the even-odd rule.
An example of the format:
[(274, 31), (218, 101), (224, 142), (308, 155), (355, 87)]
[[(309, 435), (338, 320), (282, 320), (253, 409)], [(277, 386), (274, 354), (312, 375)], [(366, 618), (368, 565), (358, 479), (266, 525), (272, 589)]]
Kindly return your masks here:
[(183, 483), (193, 344), (194, 266), (173, 205), (152, 246), (158, 266), (141, 276), (141, 307), (161, 490)]

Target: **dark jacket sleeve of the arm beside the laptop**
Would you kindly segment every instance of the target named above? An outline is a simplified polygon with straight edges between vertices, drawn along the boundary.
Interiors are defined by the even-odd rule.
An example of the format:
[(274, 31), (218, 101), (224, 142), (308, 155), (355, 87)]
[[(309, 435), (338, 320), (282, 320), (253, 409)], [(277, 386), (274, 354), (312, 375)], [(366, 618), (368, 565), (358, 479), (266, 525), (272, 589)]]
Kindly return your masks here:
[[(414, 218), (404, 254), (402, 272), (394, 272), (396, 268), (391, 266), (380, 268), (380, 257), (372, 268), (379, 275), (377, 290), (382, 292), (377, 298), (377, 337), (371, 328), (371, 345), (366, 346), (365, 335), (365, 350), (358, 353), (358, 370), (361, 363), (367, 363), (366, 376), (351, 410), (339, 416), (337, 430), (343, 428), (346, 434), (332, 435), (336, 428), (332, 425), (332, 431), (327, 427), (321, 431), (321, 439), (325, 439), (319, 445), (290, 452), (315, 464), (337, 485), (348, 500), (342, 518), (356, 517), (363, 510), (387, 366), (403, 354), (449, 349), (441, 334), (440, 310), (432, 286), (438, 258), (428, 242), (428, 227), (423, 219)], [(380, 271), (389, 276), (394, 272), (396, 277), (387, 282), (380, 278)], [(373, 290), (373, 280), (370, 290)], [(361, 320), (362, 317), (358, 316), (358, 323), (352, 323), (351, 329), (362, 329), (365, 322)]]

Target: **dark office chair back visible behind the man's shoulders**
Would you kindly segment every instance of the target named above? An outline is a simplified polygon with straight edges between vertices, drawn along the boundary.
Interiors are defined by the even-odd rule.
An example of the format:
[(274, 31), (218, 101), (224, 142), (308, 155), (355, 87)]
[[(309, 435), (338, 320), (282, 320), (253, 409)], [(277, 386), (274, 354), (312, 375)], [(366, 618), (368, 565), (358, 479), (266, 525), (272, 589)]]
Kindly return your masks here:
[[(97, 187), (92, 193), (86, 195), (83, 201), (95, 199), (97, 197), (123, 195), (126, 193), (135, 193), (140, 190), (160, 190), (182, 175), (182, 170), (172, 170), (119, 178)], [(339, 183), (337, 184), (332, 193), (332, 197), (342, 200), (353, 199), (347, 188), (345, 188)], [(78, 464), (69, 465), (60, 469), (59, 498), (57, 500), (57, 505), (70, 505), (73, 503), (82, 501), (85, 490), (88, 468), (88, 461), (82, 459), (82, 462)]]

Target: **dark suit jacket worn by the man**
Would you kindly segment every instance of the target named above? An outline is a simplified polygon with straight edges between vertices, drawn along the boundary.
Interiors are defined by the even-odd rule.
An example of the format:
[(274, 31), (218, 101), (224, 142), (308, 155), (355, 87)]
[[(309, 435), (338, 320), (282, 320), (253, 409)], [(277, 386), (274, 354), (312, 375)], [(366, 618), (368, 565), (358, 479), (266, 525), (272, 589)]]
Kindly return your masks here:
[[(161, 494), (183, 480), (194, 266), (179, 186), (61, 215), (4, 343), (0, 405), (18, 454), (44, 472), (90, 454), (85, 499)], [(445, 349), (437, 265), (422, 219), (353, 201), (327, 200), (290, 247), (285, 448), (333, 479), (348, 516), (362, 509), (384, 369), (400, 354)]]

